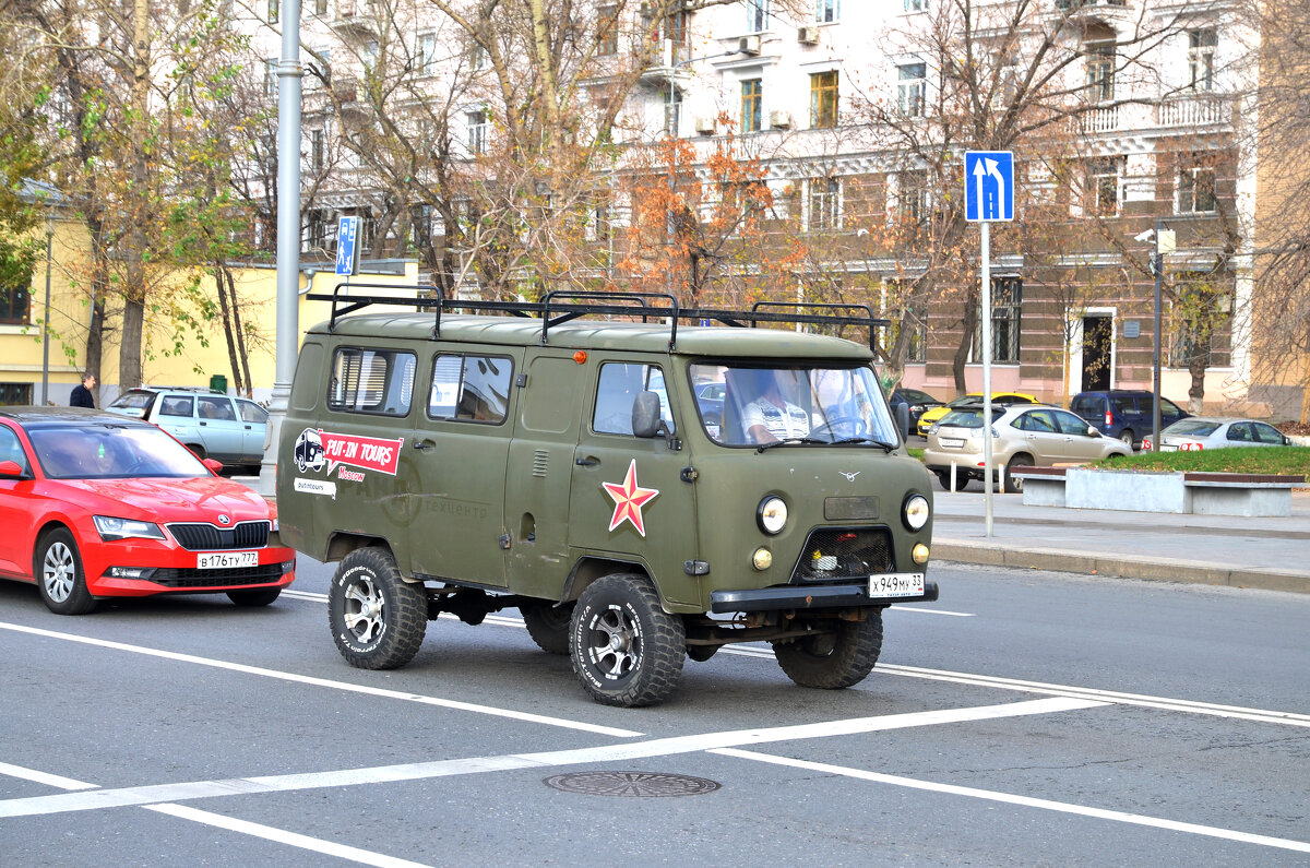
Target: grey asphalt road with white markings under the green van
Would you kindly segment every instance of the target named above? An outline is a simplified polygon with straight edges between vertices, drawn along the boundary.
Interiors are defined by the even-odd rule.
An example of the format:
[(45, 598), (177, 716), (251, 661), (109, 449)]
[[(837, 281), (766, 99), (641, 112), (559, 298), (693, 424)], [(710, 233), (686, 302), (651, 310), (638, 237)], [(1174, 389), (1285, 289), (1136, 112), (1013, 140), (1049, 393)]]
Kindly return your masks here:
[(0, 583), (5, 864), (1310, 860), (1306, 595), (939, 568), (855, 688), (744, 646), (613, 709), (512, 610), (351, 669), (329, 574), (85, 618)]

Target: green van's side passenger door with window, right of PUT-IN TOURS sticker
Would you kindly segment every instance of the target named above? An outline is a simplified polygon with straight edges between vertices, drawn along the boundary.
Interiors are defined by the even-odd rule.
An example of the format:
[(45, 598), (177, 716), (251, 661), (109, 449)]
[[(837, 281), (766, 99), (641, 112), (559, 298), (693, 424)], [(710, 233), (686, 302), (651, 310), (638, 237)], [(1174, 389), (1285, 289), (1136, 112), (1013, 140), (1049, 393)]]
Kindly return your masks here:
[[(511, 389), (521, 351), (439, 353), (410, 444), (415, 574), (503, 587)], [(423, 393), (422, 391), (419, 392)]]

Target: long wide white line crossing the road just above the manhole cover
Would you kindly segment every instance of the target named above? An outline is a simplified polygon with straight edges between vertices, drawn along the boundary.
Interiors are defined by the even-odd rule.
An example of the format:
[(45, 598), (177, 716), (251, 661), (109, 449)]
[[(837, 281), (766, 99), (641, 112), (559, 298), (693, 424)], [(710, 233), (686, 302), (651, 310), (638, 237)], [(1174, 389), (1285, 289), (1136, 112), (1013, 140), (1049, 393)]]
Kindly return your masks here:
[(514, 771), (521, 768), (545, 768), (552, 766), (576, 766), (605, 762), (626, 762), (651, 757), (671, 757), (702, 750), (734, 747), (739, 745), (764, 745), (782, 741), (803, 741), (832, 736), (852, 736), (858, 733), (905, 729), (912, 726), (931, 726), (958, 724), (977, 720), (997, 720), (1027, 715), (1049, 715), (1083, 708), (1099, 708), (1107, 703), (1077, 699), (1032, 699), (1003, 705), (982, 705), (976, 708), (950, 708), (905, 715), (883, 715), (878, 717), (857, 717), (819, 724), (796, 724), (793, 726), (773, 726), (761, 729), (741, 729), (696, 736), (675, 736), (652, 738), (641, 742), (622, 742), (600, 747), (576, 747), (550, 750), (532, 754), (506, 754), (499, 757), (474, 757), (466, 759), (439, 759), (426, 763), (405, 763), (398, 766), (377, 766), (372, 768), (345, 768), (337, 771), (304, 772), (293, 775), (270, 775), (261, 778), (232, 778), (225, 780), (199, 780), (179, 784), (153, 784), (145, 787), (123, 787), (119, 789), (94, 789), (83, 793), (60, 793), (56, 796), (31, 796), (0, 801), (0, 817), (33, 817), (101, 808), (127, 808), (155, 802), (190, 801), (193, 799), (212, 799), (270, 792), (292, 792), (300, 789), (320, 789), (335, 787), (358, 787), (363, 784), (396, 783), (402, 780), (424, 780), (473, 775), (490, 771)]

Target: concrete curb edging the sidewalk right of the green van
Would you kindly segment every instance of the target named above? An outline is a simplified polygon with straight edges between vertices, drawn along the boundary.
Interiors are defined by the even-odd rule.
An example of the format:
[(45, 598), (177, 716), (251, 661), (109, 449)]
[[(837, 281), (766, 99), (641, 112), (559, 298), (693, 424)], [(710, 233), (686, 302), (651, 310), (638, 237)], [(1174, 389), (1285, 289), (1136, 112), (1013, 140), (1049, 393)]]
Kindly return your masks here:
[(1259, 587), (1273, 591), (1310, 594), (1310, 573), (1296, 570), (1244, 569), (1204, 564), (1175, 557), (1114, 557), (1068, 549), (1014, 547), (1005, 543), (975, 543), (959, 539), (933, 540), (933, 559), (986, 566), (1049, 569), (1085, 576), (1114, 576), (1157, 582)]

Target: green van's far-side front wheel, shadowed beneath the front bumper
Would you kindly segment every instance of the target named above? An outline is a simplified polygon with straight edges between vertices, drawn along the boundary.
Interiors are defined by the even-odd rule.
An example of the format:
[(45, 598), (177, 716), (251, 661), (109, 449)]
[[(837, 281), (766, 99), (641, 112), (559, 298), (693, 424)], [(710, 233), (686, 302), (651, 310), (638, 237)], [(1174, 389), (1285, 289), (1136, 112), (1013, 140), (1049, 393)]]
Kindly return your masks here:
[(834, 628), (773, 644), (787, 678), (802, 687), (838, 690), (865, 681), (883, 649), (883, 610), (862, 621), (833, 621)]

